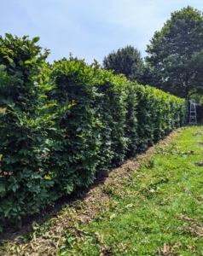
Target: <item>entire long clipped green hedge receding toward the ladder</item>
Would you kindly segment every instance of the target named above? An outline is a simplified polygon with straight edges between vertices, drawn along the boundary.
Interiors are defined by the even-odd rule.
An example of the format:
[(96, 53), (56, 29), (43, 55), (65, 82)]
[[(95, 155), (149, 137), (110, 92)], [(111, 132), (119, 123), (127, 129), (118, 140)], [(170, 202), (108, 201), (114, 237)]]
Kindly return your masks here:
[(186, 120), (185, 101), (29, 40), (0, 38), (0, 221), (17, 222), (94, 181)]

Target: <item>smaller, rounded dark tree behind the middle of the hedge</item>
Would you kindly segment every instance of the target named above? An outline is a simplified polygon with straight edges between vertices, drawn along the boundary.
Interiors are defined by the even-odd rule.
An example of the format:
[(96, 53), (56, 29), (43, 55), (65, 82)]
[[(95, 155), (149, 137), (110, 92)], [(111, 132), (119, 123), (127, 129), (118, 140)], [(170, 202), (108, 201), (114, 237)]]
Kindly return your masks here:
[(114, 70), (115, 74), (123, 73), (131, 81), (141, 82), (143, 60), (140, 51), (131, 45), (113, 51), (103, 59), (103, 67)]

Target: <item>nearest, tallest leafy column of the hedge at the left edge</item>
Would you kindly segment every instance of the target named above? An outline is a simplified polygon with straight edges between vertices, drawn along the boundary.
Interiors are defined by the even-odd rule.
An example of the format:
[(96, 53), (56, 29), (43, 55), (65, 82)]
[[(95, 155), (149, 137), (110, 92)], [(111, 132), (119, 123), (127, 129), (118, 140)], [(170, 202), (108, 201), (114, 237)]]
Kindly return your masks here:
[(6, 34), (0, 38), (1, 73), (0, 108), (0, 220), (16, 221), (26, 213), (38, 212), (49, 203), (48, 190), (53, 181), (46, 179), (43, 155), (46, 147), (49, 118), (42, 115), (39, 70), (48, 51), (41, 54), (35, 44), (39, 38), (28, 40)]

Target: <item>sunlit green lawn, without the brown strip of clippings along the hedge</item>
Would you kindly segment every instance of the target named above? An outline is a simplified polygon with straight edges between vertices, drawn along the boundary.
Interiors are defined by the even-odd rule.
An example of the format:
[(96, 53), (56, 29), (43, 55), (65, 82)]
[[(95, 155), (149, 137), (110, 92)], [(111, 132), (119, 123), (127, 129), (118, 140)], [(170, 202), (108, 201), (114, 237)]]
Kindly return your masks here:
[(92, 235), (84, 236), (83, 249), (76, 244), (73, 252), (154, 255), (165, 250), (166, 255), (171, 250), (203, 255), (203, 167), (196, 166), (203, 153), (197, 143), (201, 130), (183, 128), (172, 141), (156, 146), (148, 162), (109, 194), (116, 204), (84, 227)]

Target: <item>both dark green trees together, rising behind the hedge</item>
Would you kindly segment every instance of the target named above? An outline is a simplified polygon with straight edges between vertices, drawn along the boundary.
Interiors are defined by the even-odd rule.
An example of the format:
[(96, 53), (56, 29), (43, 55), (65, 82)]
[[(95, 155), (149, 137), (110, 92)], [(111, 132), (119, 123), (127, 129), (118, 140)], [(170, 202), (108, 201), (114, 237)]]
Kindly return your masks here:
[(143, 60), (133, 46), (113, 51), (103, 68), (176, 96), (203, 95), (203, 16), (190, 6), (175, 11), (147, 45)]

